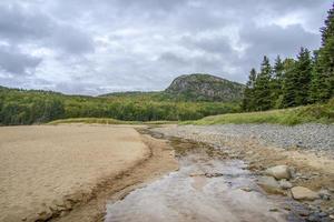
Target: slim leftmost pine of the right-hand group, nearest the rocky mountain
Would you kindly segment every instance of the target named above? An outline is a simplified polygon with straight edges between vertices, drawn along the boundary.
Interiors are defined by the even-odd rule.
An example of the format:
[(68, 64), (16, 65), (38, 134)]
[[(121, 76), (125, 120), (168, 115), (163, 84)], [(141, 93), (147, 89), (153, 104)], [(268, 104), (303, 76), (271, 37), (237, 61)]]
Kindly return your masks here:
[(255, 110), (254, 85), (256, 81), (256, 70), (253, 68), (249, 73), (249, 79), (244, 91), (242, 108), (244, 111)]

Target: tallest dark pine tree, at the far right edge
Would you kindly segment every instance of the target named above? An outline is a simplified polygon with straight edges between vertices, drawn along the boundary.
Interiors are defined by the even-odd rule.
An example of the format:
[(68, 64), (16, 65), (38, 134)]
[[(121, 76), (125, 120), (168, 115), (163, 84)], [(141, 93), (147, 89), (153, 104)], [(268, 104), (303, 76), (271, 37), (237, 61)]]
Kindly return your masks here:
[(334, 3), (321, 32), (322, 47), (316, 52), (313, 69), (311, 89), (313, 102), (325, 102), (334, 97)]

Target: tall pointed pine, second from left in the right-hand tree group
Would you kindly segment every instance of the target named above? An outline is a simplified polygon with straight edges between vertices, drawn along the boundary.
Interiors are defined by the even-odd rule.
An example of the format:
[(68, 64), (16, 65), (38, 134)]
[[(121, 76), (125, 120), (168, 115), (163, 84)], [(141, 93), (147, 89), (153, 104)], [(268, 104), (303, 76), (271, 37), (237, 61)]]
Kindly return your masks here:
[(272, 108), (271, 79), (272, 67), (269, 59), (265, 56), (261, 64), (261, 72), (257, 74), (254, 85), (255, 110), (268, 110)]

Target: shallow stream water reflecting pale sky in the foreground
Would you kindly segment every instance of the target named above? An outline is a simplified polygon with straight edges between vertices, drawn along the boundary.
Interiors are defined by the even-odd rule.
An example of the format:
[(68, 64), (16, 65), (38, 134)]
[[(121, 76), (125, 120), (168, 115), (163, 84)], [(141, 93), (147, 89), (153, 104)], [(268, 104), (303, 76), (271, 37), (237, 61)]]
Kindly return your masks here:
[(265, 195), (243, 161), (181, 147), (179, 171), (109, 203), (105, 221), (303, 221), (284, 210), (288, 199)]

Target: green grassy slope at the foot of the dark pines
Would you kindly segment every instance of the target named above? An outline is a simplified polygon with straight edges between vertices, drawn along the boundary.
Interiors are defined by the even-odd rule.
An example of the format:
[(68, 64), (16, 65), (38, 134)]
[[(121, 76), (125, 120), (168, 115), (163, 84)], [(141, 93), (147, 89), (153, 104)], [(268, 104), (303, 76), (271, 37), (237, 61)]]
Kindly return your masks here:
[(185, 121), (183, 124), (274, 123), (295, 125), (307, 122), (334, 123), (334, 99), (325, 104), (312, 104), (265, 112), (212, 115), (197, 121)]

